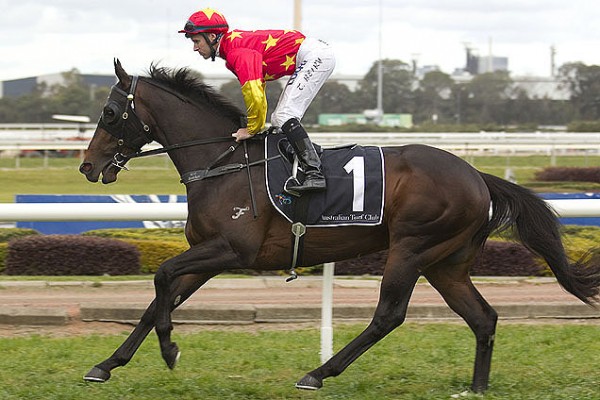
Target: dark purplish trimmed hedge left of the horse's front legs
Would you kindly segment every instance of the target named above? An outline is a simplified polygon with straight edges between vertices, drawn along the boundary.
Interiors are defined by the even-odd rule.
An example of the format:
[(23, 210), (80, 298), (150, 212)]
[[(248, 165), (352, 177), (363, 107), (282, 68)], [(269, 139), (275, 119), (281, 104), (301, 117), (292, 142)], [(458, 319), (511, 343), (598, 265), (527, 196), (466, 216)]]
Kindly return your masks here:
[(33, 235), (12, 240), (7, 275), (139, 274), (139, 252), (128, 243), (79, 235)]

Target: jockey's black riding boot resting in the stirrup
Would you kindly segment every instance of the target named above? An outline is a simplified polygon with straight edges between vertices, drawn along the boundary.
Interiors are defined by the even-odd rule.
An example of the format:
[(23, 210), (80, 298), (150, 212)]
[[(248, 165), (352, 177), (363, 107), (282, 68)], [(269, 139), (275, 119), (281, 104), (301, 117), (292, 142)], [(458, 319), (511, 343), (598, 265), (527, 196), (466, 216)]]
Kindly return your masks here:
[(304, 182), (299, 186), (288, 186), (288, 189), (297, 192), (325, 190), (326, 184), (325, 177), (321, 172), (321, 159), (300, 121), (291, 118), (283, 124), (281, 130), (290, 141), (304, 170)]

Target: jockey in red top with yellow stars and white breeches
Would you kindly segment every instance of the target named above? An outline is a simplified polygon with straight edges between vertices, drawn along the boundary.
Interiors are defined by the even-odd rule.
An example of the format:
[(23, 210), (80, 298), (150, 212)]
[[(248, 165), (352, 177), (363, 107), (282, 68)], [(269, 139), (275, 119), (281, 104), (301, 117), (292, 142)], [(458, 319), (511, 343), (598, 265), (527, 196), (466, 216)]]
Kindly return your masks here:
[(333, 72), (331, 47), (295, 30), (230, 31), (225, 17), (211, 8), (193, 13), (179, 32), (192, 40), (194, 51), (204, 59), (223, 58), (240, 81), (248, 126), (232, 134), (238, 142), (265, 129), (265, 82), (290, 76), (271, 115), (271, 125), (285, 133), (306, 176), (301, 185), (289, 189), (324, 190), (321, 160), (300, 120)]

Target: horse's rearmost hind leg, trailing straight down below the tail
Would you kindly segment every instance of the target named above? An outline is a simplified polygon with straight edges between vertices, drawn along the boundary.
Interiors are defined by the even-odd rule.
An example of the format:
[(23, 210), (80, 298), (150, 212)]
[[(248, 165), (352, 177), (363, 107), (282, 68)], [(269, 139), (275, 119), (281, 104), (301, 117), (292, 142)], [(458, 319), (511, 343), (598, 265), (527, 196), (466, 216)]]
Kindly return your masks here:
[(477, 348), (471, 389), (482, 393), (488, 388), (498, 314), (473, 286), (468, 272), (471, 263), (440, 263), (423, 275), (475, 334)]

